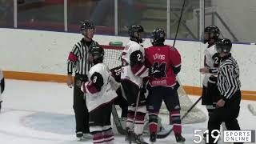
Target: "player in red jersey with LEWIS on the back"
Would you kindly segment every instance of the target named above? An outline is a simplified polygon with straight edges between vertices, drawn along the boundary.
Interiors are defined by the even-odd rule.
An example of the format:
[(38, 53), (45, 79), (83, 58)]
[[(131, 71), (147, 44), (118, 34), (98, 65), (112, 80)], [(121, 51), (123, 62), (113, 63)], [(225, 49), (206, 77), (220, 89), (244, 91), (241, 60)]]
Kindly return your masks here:
[(173, 46), (165, 45), (165, 31), (155, 29), (151, 34), (150, 46), (145, 50), (145, 63), (151, 67), (149, 78), (149, 96), (147, 98), (147, 110), (150, 118), (150, 142), (156, 141), (158, 127), (158, 113), (162, 100), (170, 111), (170, 118), (174, 126), (174, 134), (177, 142), (185, 142), (182, 137), (180, 118), (180, 104), (178, 99), (179, 84), (176, 75), (181, 70), (181, 56)]

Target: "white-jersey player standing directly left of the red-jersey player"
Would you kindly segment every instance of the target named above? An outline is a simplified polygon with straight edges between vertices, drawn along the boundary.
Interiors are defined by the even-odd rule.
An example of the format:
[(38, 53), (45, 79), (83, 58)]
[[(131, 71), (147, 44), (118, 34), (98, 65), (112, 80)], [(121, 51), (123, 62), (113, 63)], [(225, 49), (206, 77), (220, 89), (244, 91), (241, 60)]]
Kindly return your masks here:
[[(121, 84), (128, 102), (126, 140), (136, 143), (146, 143), (142, 138), (144, 118), (146, 115), (146, 98), (140, 92), (140, 89), (142, 87), (142, 78), (149, 75), (149, 69), (143, 64), (144, 49), (140, 45), (143, 42), (143, 32), (143, 27), (140, 25), (130, 26), (128, 31), (130, 42), (122, 50), (121, 58)], [(137, 102), (138, 106), (136, 106)]]

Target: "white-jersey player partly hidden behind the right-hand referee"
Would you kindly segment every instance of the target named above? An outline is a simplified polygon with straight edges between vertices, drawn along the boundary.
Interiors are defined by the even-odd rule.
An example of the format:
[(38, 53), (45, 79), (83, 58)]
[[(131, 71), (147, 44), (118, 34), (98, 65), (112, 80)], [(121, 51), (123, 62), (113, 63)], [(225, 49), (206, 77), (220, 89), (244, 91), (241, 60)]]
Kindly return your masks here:
[[(215, 43), (218, 42), (220, 30), (217, 26), (207, 26), (204, 30), (204, 43), (208, 43), (205, 50), (205, 61), (200, 72), (205, 74), (202, 87), (202, 105), (206, 105), (208, 115), (212, 114), (216, 107), (217, 96), (219, 95), (217, 87), (217, 72), (220, 58), (218, 57)], [(222, 130), (226, 130), (226, 126), (222, 124)], [(204, 134), (204, 137), (206, 134)]]

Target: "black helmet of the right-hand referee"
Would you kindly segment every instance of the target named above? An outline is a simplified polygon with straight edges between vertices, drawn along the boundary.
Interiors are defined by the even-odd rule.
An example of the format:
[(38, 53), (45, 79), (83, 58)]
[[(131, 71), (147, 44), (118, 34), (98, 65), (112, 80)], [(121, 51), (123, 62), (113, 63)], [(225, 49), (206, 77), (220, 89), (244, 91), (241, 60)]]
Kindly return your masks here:
[(232, 47), (232, 42), (228, 38), (218, 39), (215, 48), (218, 53), (229, 53)]

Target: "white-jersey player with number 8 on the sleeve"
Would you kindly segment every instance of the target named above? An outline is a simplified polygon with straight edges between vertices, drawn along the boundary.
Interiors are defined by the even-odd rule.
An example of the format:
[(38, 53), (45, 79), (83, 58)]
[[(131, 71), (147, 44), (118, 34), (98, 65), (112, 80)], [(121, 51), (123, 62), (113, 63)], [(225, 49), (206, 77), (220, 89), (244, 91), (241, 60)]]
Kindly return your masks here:
[(81, 90), (86, 94), (86, 106), (90, 113), (90, 133), (93, 134), (94, 143), (114, 143), (110, 115), (115, 90), (118, 83), (111, 76), (110, 70), (103, 63), (104, 50), (102, 46), (91, 46), (91, 67), (88, 74), (88, 82), (82, 82)]

